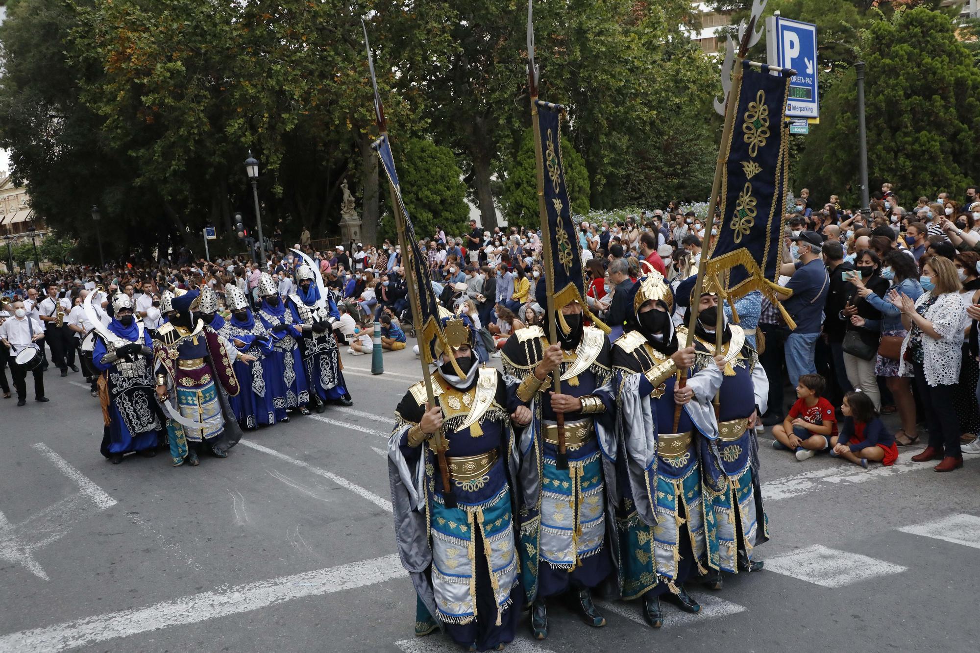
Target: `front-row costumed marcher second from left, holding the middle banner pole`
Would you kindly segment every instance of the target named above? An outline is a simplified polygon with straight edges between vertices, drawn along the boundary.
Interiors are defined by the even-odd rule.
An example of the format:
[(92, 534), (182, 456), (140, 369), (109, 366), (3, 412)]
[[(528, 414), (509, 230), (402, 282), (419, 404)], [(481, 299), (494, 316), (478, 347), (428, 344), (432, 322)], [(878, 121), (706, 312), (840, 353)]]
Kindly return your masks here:
[[(537, 284), (536, 296), (547, 306), (545, 283)], [(582, 620), (595, 628), (606, 626), (593, 604), (592, 588), (613, 572), (615, 555), (607, 543), (612, 504), (607, 505), (604, 489), (614, 470), (603, 455), (615, 443), (610, 342), (602, 329), (585, 326), (591, 315), (577, 301), (556, 313), (559, 342), (549, 343), (540, 326), (527, 326), (517, 329), (502, 350), (508, 384), (533, 416), (521, 436), (520, 464), (538, 477), (523, 497), (519, 549), (532, 602), (531, 629), (538, 639), (548, 636), (545, 599), (569, 589), (577, 593)], [(561, 375), (562, 394), (551, 392), (553, 373)], [(564, 457), (557, 413), (564, 414)]]

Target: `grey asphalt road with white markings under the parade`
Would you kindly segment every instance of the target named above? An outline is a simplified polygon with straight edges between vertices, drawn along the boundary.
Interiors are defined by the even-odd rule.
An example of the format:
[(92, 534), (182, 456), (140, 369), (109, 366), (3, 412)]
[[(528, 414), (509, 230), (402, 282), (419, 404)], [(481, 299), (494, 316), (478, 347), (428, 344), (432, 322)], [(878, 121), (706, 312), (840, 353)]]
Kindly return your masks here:
[[(80, 375), (51, 402), (0, 399), (0, 653), (455, 651), (413, 636), (395, 556), (383, 449), (420, 378), (410, 350), (345, 356), (355, 406), (253, 431), (225, 460), (99, 454), (102, 417)], [(319, 419), (315, 419), (319, 418)], [(771, 540), (760, 574), (695, 588), (702, 614), (654, 631), (638, 603), (593, 629), (555, 602), (551, 636), (509, 650), (977, 651), (980, 461), (938, 475), (803, 463), (761, 436)]]

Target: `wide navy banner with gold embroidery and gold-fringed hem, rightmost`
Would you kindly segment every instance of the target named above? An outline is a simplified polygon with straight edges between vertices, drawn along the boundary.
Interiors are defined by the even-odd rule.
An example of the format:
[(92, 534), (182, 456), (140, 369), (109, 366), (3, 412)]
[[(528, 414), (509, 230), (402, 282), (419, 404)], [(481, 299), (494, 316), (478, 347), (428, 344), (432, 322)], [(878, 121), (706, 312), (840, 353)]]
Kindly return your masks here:
[(735, 102), (721, 190), (721, 224), (706, 273), (723, 280), (732, 300), (773, 289), (782, 257), (789, 127), (786, 97), (790, 77), (744, 64)]

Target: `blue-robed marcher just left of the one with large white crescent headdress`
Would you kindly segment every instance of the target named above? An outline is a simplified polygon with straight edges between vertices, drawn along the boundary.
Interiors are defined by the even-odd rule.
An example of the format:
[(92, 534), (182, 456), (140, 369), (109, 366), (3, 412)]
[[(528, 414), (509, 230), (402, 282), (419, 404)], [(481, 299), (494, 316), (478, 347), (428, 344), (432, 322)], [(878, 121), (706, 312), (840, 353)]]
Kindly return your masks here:
[(298, 409), (301, 415), (310, 415), (310, 391), (307, 389), (303, 357), (296, 338), (302, 335), (300, 325), (292, 311), (287, 311), (279, 297), (275, 280), (263, 273), (259, 278), (259, 319), (266, 332), (272, 336), (272, 354), (265, 363), (270, 366), (266, 391), (271, 392), (276, 422), (288, 422), (286, 411)]

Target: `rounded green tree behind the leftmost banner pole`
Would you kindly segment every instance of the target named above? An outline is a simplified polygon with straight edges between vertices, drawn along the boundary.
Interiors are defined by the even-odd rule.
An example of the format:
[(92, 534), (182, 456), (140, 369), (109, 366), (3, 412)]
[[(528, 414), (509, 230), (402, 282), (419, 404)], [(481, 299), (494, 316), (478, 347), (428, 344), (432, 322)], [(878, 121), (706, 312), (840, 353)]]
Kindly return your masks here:
[[(402, 198), (416, 227), (417, 237), (429, 237), (440, 226), (446, 233), (464, 233), (469, 218), (466, 184), (453, 151), (422, 138), (409, 138), (404, 146), (393, 143), (392, 149)], [(383, 192), (381, 195), (387, 208), (382, 222), (383, 234), (394, 240), (397, 234), (391, 215), (390, 194)]]

